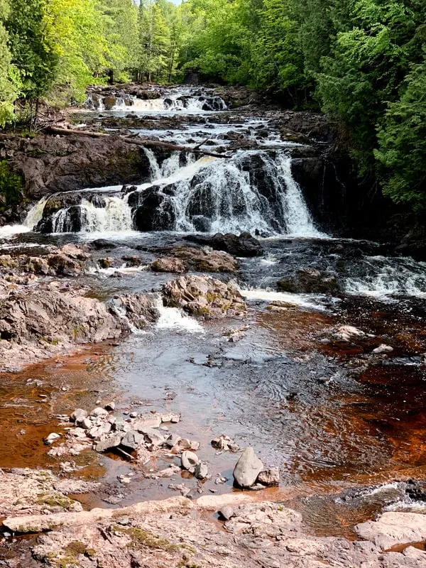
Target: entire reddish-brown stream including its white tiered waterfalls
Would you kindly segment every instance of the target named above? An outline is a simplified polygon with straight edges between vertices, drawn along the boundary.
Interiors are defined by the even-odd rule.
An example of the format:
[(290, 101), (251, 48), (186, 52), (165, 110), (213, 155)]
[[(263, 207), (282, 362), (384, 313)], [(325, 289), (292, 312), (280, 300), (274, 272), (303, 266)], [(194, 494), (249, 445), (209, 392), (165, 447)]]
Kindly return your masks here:
[[(426, 511), (426, 503), (411, 501), (400, 484), (426, 477), (425, 263), (388, 256), (381, 244), (326, 234), (293, 178), (293, 153), (301, 144), (283, 139), (271, 118), (227, 109), (217, 94), (192, 87), (166, 90), (162, 99), (117, 99), (110, 110), (99, 97), (89, 104), (82, 124), (101, 127), (111, 117), (131, 124), (143, 116), (158, 128), (131, 126), (138, 136), (204, 143), (231, 157), (146, 149), (150, 182), (43, 198), (22, 226), (0, 229), (1, 250), (28, 253), (46, 244), (106, 239), (114, 248), (99, 251), (99, 258), (141, 258), (132, 268), (94, 263), (84, 283), (107, 298), (159, 290), (175, 278), (146, 270), (157, 248), (188, 245), (188, 235), (249, 231), (261, 241), (263, 256), (239, 259), (232, 276), (249, 304), (248, 329), (231, 343), (224, 332), (241, 322), (201, 322), (160, 306), (151, 331), (9, 373), (0, 388), (0, 419), (11, 442), (0, 449), (0, 467), (55, 467), (42, 441), (55, 427), (52, 415), (111, 396), (120, 410), (149, 405), (182, 413), (176, 432), (199, 440), (200, 458), (228, 479), (221, 486), (213, 478), (204, 491), (236, 491), (236, 456), (216, 455), (213, 437), (224, 433), (241, 447), (252, 445), (281, 473), (280, 487), (256, 498), (300, 510), (319, 535), (353, 538), (351, 526), (386, 507)], [(177, 114), (185, 120), (171, 129), (168, 119)], [(246, 148), (231, 151), (235, 141)], [(46, 208), (53, 200), (56, 207)], [(300, 268), (332, 274), (334, 292), (279, 291), (278, 283)], [(287, 309), (266, 309), (272, 301), (286, 302)], [(342, 325), (368, 338), (330, 339)], [(381, 344), (393, 351), (373, 354)], [(168, 480), (145, 479), (138, 471), (129, 486), (120, 486), (117, 476), (132, 466), (112, 454), (100, 463), (82, 460), (85, 475), (109, 488), (83, 496), (87, 507), (175, 494)], [(183, 481), (196, 486), (194, 479)]]

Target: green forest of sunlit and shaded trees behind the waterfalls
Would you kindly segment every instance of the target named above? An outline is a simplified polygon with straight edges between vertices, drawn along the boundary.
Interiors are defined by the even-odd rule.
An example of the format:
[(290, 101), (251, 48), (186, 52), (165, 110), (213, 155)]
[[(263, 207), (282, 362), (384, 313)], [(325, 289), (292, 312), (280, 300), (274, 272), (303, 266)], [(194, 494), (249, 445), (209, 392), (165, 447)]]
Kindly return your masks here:
[(361, 175), (425, 209), (425, 0), (0, 0), (1, 126), (17, 100), (187, 72), (321, 109)]

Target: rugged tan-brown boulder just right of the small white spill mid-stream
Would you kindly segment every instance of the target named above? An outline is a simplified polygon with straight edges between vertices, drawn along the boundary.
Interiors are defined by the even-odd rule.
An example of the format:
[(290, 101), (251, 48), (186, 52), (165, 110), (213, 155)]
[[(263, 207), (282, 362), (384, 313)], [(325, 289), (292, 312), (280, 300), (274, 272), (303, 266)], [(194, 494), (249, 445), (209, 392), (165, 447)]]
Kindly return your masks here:
[(207, 319), (246, 314), (246, 303), (236, 288), (209, 276), (182, 276), (163, 285), (169, 306)]

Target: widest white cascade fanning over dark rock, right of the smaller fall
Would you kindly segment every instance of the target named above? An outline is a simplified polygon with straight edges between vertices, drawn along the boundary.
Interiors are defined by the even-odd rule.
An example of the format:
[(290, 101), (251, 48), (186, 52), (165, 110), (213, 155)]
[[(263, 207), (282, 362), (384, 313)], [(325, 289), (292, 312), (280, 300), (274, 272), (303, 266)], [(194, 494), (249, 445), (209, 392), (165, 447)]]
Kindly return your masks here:
[(202, 158), (178, 170), (178, 156), (169, 160), (152, 169), (156, 175), (167, 175), (169, 168), (174, 174), (138, 190), (143, 207), (158, 187), (160, 205), (156, 212), (144, 211), (144, 218), (173, 218), (173, 224), (155, 229), (324, 236), (315, 228), (287, 153), (240, 151), (231, 159)]

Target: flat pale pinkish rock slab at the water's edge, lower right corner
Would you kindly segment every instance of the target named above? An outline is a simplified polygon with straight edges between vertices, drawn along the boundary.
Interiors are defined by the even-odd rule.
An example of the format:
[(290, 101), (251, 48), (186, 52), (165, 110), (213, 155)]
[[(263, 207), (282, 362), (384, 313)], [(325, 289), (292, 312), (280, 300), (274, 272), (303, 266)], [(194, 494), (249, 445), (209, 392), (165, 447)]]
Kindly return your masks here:
[(388, 550), (395, 545), (426, 540), (426, 515), (383, 513), (377, 520), (356, 525), (355, 531), (361, 538)]

